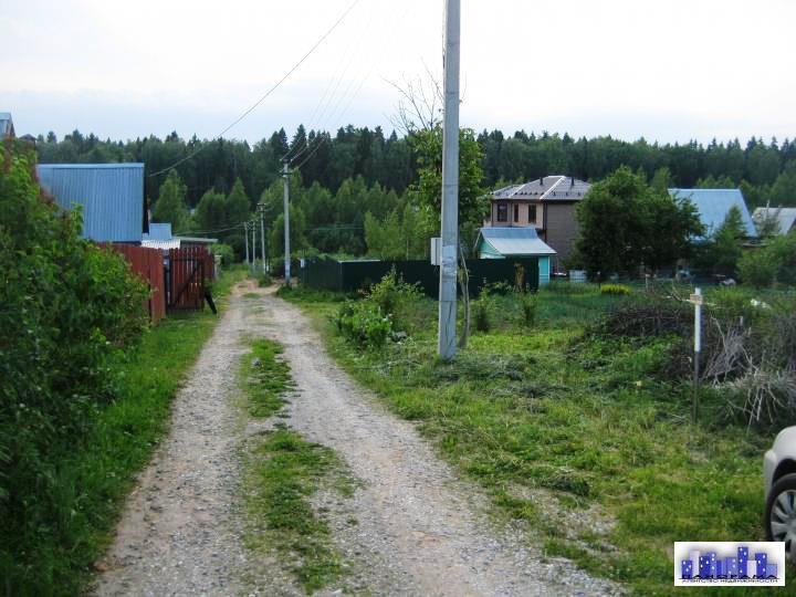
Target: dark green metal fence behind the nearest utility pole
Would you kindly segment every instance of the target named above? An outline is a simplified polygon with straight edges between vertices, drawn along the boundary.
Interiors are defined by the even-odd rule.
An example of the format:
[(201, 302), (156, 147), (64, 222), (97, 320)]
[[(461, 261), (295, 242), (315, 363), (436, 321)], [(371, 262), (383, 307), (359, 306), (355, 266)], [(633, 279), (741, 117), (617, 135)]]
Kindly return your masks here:
[[(439, 266), (428, 261), (337, 261), (310, 258), (304, 260), (298, 279), (311, 289), (354, 292), (378, 282), (392, 268), (405, 282), (419, 283), (428, 296), (439, 294)], [(478, 295), (484, 284), (504, 282), (514, 286), (519, 282), (519, 271), (524, 286), (533, 291), (538, 289), (536, 258), (471, 259), (467, 261), (467, 268), (470, 272), (470, 293), (473, 295)]]

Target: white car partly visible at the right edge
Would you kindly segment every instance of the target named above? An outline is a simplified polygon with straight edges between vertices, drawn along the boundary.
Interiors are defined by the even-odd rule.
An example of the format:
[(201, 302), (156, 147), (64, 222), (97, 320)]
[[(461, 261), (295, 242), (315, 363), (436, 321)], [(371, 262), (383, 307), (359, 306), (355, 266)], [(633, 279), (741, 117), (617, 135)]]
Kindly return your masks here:
[(766, 536), (784, 541), (789, 559), (796, 559), (796, 427), (786, 427), (763, 458), (766, 489)]

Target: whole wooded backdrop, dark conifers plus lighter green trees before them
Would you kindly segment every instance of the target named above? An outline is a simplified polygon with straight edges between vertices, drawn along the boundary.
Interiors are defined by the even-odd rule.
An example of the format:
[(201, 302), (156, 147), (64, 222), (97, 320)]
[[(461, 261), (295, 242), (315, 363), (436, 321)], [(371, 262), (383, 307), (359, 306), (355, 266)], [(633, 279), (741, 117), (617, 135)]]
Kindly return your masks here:
[[(472, 243), (486, 214), (484, 193), (498, 186), (563, 174), (597, 182), (620, 167), (658, 192), (668, 187), (740, 187), (750, 208), (796, 205), (796, 142), (650, 144), (611, 137), (500, 130), (460, 137), (460, 230)], [(143, 161), (153, 221), (176, 232), (211, 235), (245, 251), (242, 222), (265, 207), (269, 253), (283, 251), (282, 160), (292, 163), (291, 241), (294, 254), (336, 253), (420, 258), (439, 230), (441, 130), (385, 136), (347, 126), (335, 135), (300, 126), (251, 147), (239, 140), (166, 138), (101, 140), (75, 130), (36, 142), (40, 163)], [(171, 168), (171, 166), (175, 166)], [(154, 175), (154, 176), (153, 176)]]

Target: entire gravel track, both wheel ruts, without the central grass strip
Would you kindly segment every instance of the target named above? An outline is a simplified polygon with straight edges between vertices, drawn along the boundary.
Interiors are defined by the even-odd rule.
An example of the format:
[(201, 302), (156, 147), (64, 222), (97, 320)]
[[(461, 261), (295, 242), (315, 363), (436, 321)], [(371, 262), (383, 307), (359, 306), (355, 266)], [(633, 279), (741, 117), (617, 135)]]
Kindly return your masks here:
[(247, 426), (231, 389), (244, 335), (284, 345), (296, 384), (285, 422), (334, 449), (360, 481), (350, 499), (322, 491), (314, 500), (352, 564), (341, 586), (324, 594), (619, 593), (565, 559), (543, 562), (521, 533), (496, 531), (483, 513), (486, 498), (332, 362), (301, 310), (270, 292), (245, 291), (261, 297), (237, 290), (177, 397), (171, 433), (129, 499), (97, 594), (297, 594), (277, 566), (253, 562), (241, 545), (235, 454)]

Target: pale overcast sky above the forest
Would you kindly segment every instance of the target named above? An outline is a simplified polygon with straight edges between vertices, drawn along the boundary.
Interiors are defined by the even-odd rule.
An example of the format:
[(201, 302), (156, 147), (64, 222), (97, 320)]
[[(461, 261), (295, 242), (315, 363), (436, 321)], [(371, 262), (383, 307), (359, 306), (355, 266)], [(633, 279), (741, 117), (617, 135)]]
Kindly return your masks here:
[[(214, 137), (352, 0), (0, 0), (18, 134)], [(462, 126), (687, 142), (796, 136), (794, 0), (463, 0)], [(441, 76), (441, 0), (360, 0), (227, 137), (392, 128)]]

